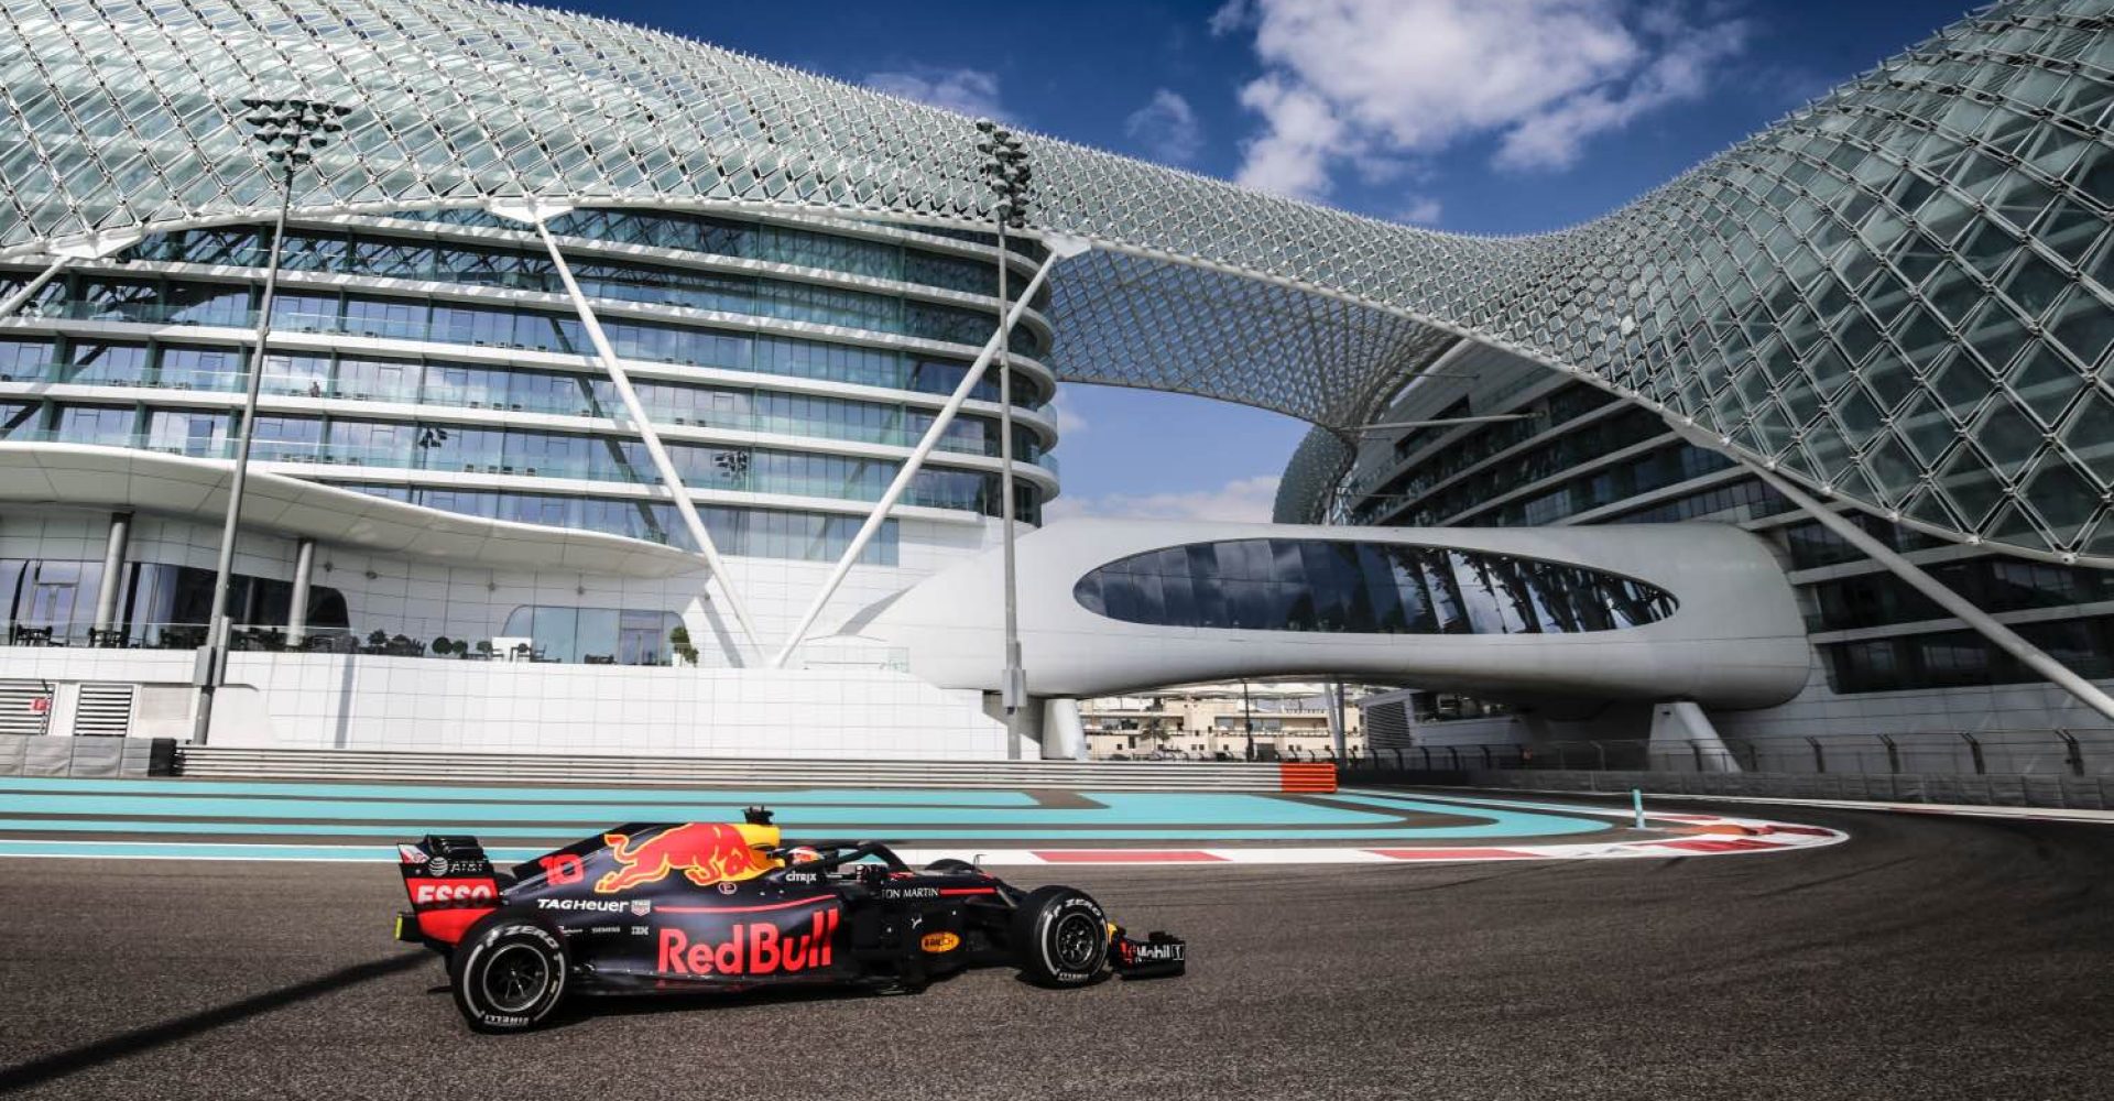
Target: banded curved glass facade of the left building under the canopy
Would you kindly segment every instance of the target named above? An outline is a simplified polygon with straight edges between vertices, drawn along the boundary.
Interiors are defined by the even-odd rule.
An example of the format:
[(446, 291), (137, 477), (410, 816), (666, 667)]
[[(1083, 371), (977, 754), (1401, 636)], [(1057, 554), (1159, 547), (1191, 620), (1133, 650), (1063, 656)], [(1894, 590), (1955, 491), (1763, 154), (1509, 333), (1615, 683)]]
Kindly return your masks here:
[[(782, 499), (877, 501), (996, 323), (996, 251), (932, 235), (594, 209), (554, 232), (685, 486), (715, 494), (708, 524), (729, 554), (839, 554), (852, 509)], [(0, 440), (233, 456), (264, 245), (254, 226), (159, 235), (51, 281), (0, 340)], [(1046, 344), (1038, 323), (1015, 328), (1017, 353)], [(998, 473), (960, 461), (1000, 454), (998, 393), (996, 372), (972, 389), (985, 408), (949, 425), (905, 505), (998, 516)], [(1015, 372), (1021, 408), (1049, 395), (1032, 368)], [(290, 230), (256, 461), (448, 511), (687, 545), (668, 505), (638, 499), (660, 480), (626, 421), (550, 256), (518, 224), (461, 211)], [(1015, 456), (1055, 471), (1044, 431), (1021, 421)], [(1036, 478), (1053, 473), (1017, 484), (1027, 522), (1051, 488)], [(894, 564), (894, 522), (865, 560)]]

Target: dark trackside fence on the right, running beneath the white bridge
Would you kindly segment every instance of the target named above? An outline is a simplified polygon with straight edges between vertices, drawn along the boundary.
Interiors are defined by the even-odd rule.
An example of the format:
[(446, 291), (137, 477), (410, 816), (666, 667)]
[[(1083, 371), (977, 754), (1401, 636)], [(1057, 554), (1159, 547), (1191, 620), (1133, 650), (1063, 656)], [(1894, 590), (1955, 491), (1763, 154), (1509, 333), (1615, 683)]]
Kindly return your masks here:
[(1803, 776), (2114, 776), (2114, 727), (1913, 731), (1704, 742), (1535, 742), (1376, 748), (1347, 769), (1685, 771)]

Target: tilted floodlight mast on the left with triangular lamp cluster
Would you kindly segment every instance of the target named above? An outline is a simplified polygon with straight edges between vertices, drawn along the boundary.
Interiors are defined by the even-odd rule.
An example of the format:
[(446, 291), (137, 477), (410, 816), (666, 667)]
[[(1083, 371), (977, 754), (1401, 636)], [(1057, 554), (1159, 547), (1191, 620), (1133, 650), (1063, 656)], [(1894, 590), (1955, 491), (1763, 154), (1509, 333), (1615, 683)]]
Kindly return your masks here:
[(249, 344), (249, 378), (243, 391), (243, 421), (235, 437), (235, 478), (228, 482), (228, 516), (220, 526), (220, 560), (214, 566), (214, 609), (205, 619), (205, 645), (192, 680), (199, 687), (199, 706), (192, 716), (190, 740), (205, 744), (214, 729), (214, 691), (228, 676), (228, 587), (235, 579), (235, 535), (243, 514), (243, 490), (249, 482), (249, 444), (256, 440), (258, 391), (264, 385), (264, 342), (271, 338), (273, 296), (279, 292), (279, 256), (285, 245), (285, 218), (294, 205), (294, 169), (315, 161), (315, 150), (330, 144), (330, 135), (345, 129), (345, 116), (353, 108), (326, 104), (321, 99), (243, 99), (249, 112), (249, 137), (264, 146), (264, 156), (279, 169), (279, 218), (273, 222), (271, 258), (264, 266), (264, 298), (258, 302), (258, 328)]

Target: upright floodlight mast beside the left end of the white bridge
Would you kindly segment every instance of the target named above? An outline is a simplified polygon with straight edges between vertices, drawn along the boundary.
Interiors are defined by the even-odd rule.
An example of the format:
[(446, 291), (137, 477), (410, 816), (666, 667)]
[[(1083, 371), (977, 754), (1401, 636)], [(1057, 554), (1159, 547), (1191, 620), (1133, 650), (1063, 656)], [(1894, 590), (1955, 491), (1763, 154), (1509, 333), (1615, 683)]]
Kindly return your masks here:
[(1006, 759), (1021, 757), (1021, 708), (1027, 706), (1027, 670), (1021, 666), (1021, 609), (1019, 579), (1013, 552), (1015, 497), (1013, 497), (1013, 311), (1006, 302), (1006, 230), (1027, 226), (1027, 186), (1034, 169), (1027, 167), (1027, 150), (1021, 139), (989, 118), (977, 118), (977, 152), (985, 156), (983, 184), (998, 199), (991, 203), (991, 222), (998, 228), (998, 486), (1000, 486), (1000, 545), (1004, 558), (1006, 585), (1006, 664), (998, 683), (998, 702), (1006, 710)]

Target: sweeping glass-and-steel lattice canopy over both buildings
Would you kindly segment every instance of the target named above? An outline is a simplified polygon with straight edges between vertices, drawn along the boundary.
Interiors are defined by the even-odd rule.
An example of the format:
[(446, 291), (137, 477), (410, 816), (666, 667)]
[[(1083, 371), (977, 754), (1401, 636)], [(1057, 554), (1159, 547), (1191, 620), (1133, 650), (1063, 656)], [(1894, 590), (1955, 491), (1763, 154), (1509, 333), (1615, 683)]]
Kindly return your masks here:
[[(1541, 237), (1416, 230), (1030, 137), (1032, 228), (1095, 245), (1053, 277), (1053, 366), (1347, 431), (1473, 338), (1869, 511), (2114, 564), (2108, 15), (1996, 4)], [(245, 95), (351, 108), (296, 184), (309, 216), (535, 197), (987, 218), (968, 118), (607, 19), (4, 0), (0, 258), (260, 220), (275, 184)]]

